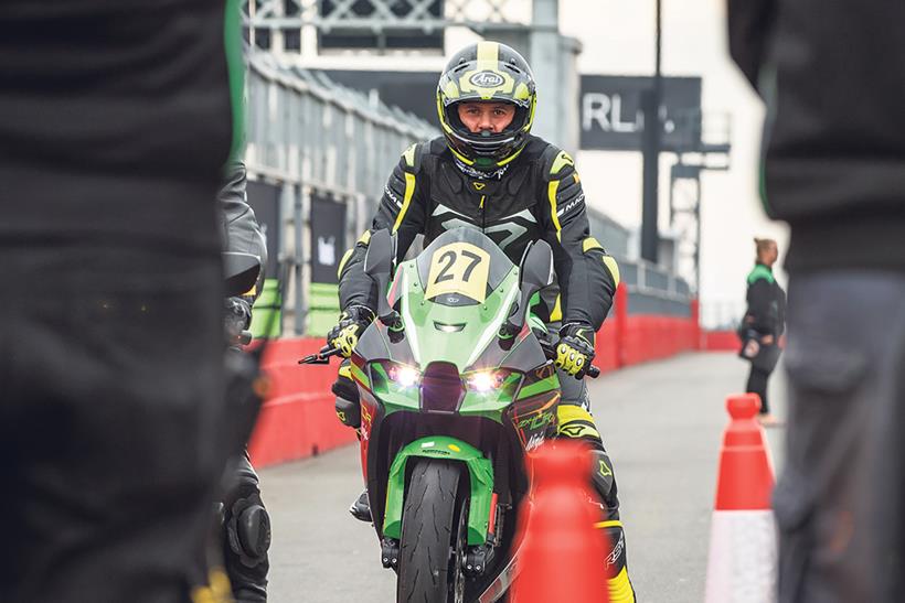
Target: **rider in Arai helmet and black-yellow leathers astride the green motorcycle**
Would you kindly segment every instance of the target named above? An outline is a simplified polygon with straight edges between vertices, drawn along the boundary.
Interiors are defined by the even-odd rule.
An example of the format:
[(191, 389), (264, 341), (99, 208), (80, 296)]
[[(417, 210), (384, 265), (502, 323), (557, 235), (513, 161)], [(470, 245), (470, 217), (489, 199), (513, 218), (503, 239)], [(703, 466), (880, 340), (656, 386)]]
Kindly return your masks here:
[[(594, 486), (606, 515), (597, 526), (606, 530), (611, 545), (605, 561), (610, 601), (634, 602), (613, 464), (582, 380), (594, 358), (595, 332), (613, 304), (619, 270), (590, 236), (574, 161), (531, 136), (535, 104), (531, 67), (511, 47), (479, 42), (453, 55), (437, 86), (443, 137), (413, 144), (402, 154), (371, 229), (342, 258), (342, 314), (328, 342), (349, 357), (374, 320), (377, 292), (363, 266), (375, 230), (386, 228), (397, 236), (397, 259), (416, 235), (424, 235), (427, 245), (445, 230), (462, 226), (479, 228), (517, 265), (529, 243), (546, 240), (554, 250), (558, 287), (544, 291), (532, 312), (558, 337), (558, 437), (583, 440), (593, 449)], [(349, 403), (343, 400), (358, 400), (344, 365), (333, 391), (340, 397), (340, 420), (354, 426), (356, 405), (340, 406)], [(366, 492), (350, 510), (359, 519), (371, 520)]]

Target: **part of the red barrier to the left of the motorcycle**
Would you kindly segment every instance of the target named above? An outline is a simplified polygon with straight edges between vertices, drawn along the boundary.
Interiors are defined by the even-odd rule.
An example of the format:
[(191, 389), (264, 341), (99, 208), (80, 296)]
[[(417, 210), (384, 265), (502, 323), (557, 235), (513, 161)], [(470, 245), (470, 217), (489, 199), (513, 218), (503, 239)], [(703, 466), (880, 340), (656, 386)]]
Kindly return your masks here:
[(255, 466), (305, 459), (355, 441), (355, 432), (333, 411), (330, 385), (337, 362), (298, 364), (322, 346), (323, 340), (316, 338), (277, 340), (268, 346), (263, 366), (270, 376), (270, 392), (248, 444)]

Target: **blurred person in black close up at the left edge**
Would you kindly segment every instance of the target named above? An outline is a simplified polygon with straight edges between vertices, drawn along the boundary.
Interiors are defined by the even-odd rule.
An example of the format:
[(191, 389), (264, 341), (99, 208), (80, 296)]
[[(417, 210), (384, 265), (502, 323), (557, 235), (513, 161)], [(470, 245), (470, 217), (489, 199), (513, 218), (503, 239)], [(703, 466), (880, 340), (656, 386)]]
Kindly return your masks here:
[(0, 11), (4, 603), (190, 600), (223, 470), (224, 8)]

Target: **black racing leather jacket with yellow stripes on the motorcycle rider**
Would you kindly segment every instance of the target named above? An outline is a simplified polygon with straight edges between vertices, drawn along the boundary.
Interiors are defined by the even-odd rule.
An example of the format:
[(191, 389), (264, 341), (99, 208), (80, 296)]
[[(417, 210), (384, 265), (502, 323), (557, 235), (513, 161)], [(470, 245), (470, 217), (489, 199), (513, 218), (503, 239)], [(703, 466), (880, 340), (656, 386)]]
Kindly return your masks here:
[(396, 233), (402, 258), (416, 235), (424, 235), (428, 245), (460, 226), (480, 229), (515, 265), (529, 241), (546, 240), (553, 248), (562, 299), (555, 291), (545, 297), (540, 317), (599, 329), (613, 304), (618, 269), (590, 236), (572, 158), (536, 137), (530, 137), (500, 180), (466, 175), (443, 138), (405, 151), (386, 183), (371, 229), (340, 262), (341, 306), (375, 308), (376, 293), (363, 271), (371, 233), (382, 228)]

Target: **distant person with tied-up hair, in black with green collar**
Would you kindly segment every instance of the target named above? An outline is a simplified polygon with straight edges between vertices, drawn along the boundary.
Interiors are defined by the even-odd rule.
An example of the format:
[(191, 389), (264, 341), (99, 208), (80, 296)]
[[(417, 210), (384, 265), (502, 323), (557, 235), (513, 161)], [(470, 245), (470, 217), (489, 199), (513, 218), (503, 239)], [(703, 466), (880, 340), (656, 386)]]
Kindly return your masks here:
[(764, 427), (776, 427), (780, 421), (770, 413), (767, 400), (767, 380), (779, 360), (779, 337), (786, 319), (786, 292), (773, 276), (773, 265), (779, 258), (779, 248), (773, 239), (754, 239), (756, 258), (748, 273), (748, 308), (738, 335), (742, 337), (739, 356), (750, 363), (745, 391), (760, 398), (758, 420)]

